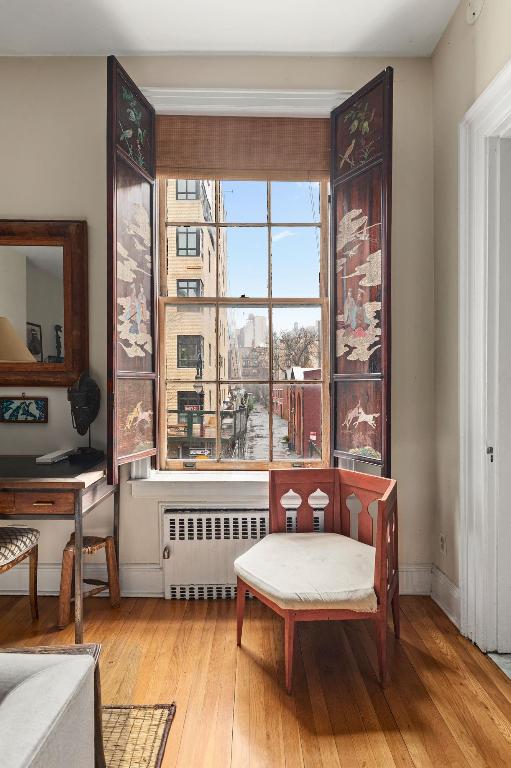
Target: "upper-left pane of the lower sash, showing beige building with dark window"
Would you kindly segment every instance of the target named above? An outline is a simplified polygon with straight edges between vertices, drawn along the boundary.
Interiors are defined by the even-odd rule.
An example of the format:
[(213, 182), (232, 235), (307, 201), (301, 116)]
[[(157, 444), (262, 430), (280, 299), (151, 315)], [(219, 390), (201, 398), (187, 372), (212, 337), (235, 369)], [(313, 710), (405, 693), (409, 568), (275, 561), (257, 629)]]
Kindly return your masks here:
[(215, 338), (213, 306), (166, 306), (165, 378), (214, 380)]

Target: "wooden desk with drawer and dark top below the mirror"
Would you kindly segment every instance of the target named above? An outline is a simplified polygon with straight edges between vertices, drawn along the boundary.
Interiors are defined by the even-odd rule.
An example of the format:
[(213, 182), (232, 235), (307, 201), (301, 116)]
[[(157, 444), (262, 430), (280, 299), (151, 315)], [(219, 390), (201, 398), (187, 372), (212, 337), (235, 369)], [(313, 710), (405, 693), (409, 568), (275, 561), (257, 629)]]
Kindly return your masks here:
[(0, 518), (74, 520), (75, 642), (83, 643), (83, 518), (114, 496), (113, 536), (119, 567), (119, 486), (107, 485), (104, 462), (80, 467), (36, 464), (35, 456), (0, 456)]

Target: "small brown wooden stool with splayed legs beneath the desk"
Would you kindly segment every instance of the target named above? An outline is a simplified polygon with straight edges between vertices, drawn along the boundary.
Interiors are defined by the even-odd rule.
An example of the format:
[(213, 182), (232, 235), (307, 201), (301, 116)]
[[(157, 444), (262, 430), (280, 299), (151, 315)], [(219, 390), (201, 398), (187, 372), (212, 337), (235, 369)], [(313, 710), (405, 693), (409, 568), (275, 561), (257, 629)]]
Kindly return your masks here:
[[(108, 581), (101, 579), (84, 579), (84, 584), (91, 584), (92, 589), (83, 593), (84, 597), (98, 595), (106, 589), (110, 590), (110, 603), (113, 608), (118, 608), (121, 604), (121, 595), (119, 591), (119, 573), (117, 571), (117, 558), (115, 556), (115, 545), (112, 536), (101, 538), (100, 536), (84, 536), (82, 552), (90, 555), (100, 549), (105, 549), (106, 567), (108, 571)], [(71, 534), (64, 552), (62, 553), (62, 570), (60, 573), (60, 594), (59, 594), (59, 620), (58, 626), (62, 629), (69, 624), (69, 615), (73, 592), (74, 578), (74, 560), (75, 560), (75, 535)]]

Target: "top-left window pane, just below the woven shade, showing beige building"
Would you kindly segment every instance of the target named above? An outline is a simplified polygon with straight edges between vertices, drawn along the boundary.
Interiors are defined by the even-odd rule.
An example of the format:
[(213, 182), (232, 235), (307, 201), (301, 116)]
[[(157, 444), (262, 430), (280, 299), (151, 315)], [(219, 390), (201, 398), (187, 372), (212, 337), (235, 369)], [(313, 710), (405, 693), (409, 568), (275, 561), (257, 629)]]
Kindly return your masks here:
[(215, 182), (207, 179), (168, 179), (167, 221), (201, 224), (215, 218)]

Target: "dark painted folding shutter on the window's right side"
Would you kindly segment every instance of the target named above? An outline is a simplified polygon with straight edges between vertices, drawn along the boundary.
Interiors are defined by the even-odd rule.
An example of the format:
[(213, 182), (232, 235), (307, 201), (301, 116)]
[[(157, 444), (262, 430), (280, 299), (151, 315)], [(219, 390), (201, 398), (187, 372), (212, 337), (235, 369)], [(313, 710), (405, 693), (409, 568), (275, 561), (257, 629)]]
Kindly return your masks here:
[(390, 475), (392, 83), (388, 67), (331, 115), (332, 454)]

